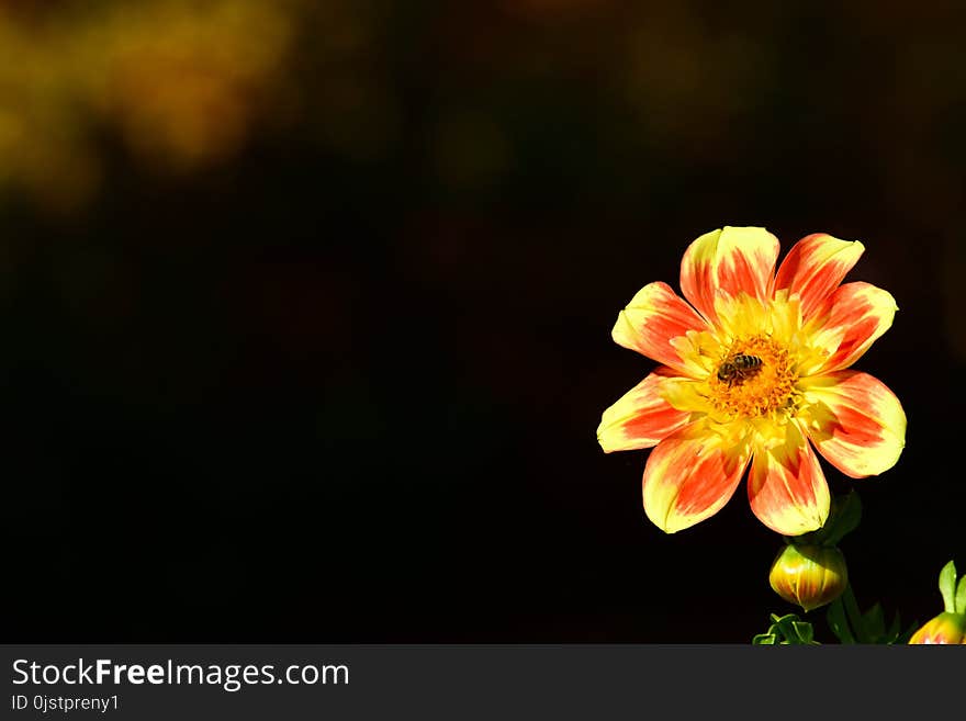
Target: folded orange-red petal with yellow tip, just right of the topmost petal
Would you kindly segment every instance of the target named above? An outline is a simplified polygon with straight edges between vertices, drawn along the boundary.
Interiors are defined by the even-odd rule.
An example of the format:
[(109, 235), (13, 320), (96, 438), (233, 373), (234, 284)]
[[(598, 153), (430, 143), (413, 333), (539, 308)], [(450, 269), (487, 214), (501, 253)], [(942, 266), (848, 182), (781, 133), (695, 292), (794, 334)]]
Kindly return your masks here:
[(787, 291), (801, 302), (801, 315), (809, 320), (812, 313), (842, 282), (858, 262), (865, 247), (856, 241), (840, 240), (825, 233), (813, 233), (796, 243), (775, 277), (774, 290)]

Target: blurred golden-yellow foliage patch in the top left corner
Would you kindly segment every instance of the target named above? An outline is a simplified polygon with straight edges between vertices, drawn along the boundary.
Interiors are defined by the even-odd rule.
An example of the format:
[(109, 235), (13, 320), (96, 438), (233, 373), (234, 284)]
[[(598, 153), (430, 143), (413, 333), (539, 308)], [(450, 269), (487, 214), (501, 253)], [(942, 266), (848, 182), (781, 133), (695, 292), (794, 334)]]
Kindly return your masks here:
[(103, 136), (139, 161), (231, 157), (278, 104), (297, 0), (0, 4), (0, 182), (74, 206)]

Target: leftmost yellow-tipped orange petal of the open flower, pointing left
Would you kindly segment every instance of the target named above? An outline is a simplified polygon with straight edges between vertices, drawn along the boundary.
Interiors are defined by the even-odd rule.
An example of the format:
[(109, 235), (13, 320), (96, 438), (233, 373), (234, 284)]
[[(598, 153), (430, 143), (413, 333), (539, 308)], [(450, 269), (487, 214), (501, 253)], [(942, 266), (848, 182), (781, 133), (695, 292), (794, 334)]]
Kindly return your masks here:
[(670, 368), (658, 368), (604, 412), (597, 441), (605, 453), (652, 448), (688, 421), (689, 412), (676, 409), (661, 395), (674, 378)]

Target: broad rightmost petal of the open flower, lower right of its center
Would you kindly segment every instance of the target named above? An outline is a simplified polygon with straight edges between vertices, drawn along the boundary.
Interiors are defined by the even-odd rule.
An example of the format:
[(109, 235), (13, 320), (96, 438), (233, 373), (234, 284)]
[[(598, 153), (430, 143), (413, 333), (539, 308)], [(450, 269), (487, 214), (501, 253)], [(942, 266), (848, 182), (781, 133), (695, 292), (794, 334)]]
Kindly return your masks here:
[(829, 463), (853, 478), (888, 471), (906, 446), (906, 413), (881, 381), (838, 371), (801, 382), (806, 432)]

